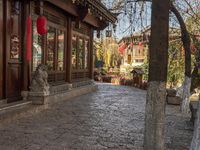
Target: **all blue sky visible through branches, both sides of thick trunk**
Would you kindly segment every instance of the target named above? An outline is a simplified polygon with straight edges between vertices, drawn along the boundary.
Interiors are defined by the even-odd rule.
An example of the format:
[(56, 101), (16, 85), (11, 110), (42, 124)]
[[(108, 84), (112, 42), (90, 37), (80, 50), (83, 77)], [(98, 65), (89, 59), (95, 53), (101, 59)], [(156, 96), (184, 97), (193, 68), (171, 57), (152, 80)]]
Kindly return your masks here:
[[(104, 0), (104, 4), (107, 6), (107, 8), (111, 8), (113, 1), (116, 2), (117, 0)], [(197, 7), (197, 9), (200, 10), (200, 6), (199, 6), (200, 0), (188, 0), (188, 2), (191, 3), (193, 7)], [(178, 9), (180, 10), (181, 9), (186, 10), (188, 8), (187, 5), (185, 5), (185, 3), (183, 2), (183, 0), (177, 0), (176, 6), (179, 7)], [(141, 9), (143, 10), (142, 21), (141, 21), (141, 15), (140, 15)], [(138, 32), (139, 30), (150, 25), (151, 3), (146, 3), (144, 7), (142, 7), (142, 5), (138, 3), (136, 5), (134, 3), (128, 4), (127, 14), (125, 14), (125, 8), (123, 8), (121, 12), (122, 13), (118, 16), (116, 33), (113, 33), (114, 37), (117, 38), (118, 40), (134, 32)], [(184, 15), (184, 14), (183, 16), (184, 18), (188, 17), (187, 15)], [(132, 20), (132, 22), (130, 22), (130, 20)], [(170, 26), (179, 27), (177, 20), (174, 19), (174, 17), (170, 17)], [(110, 26), (109, 29), (111, 28), (112, 27)]]

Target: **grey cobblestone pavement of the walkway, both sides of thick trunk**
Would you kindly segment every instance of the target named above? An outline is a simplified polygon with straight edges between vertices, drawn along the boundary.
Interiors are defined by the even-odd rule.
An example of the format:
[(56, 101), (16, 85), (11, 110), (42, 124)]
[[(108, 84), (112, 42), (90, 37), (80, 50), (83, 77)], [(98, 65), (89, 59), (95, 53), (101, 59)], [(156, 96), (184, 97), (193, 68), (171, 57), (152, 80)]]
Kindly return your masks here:
[[(97, 92), (0, 127), (0, 150), (142, 150), (145, 91), (99, 84)], [(187, 150), (192, 130), (167, 106), (166, 149)]]

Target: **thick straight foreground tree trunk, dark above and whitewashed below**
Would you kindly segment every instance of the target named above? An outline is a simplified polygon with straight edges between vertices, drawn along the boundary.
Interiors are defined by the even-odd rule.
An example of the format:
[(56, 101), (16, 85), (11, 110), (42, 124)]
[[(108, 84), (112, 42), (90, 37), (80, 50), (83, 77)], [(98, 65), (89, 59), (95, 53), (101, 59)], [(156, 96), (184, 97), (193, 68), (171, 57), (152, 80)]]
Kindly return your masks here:
[(164, 150), (169, 6), (170, 0), (152, 1), (149, 85), (145, 112), (145, 150)]

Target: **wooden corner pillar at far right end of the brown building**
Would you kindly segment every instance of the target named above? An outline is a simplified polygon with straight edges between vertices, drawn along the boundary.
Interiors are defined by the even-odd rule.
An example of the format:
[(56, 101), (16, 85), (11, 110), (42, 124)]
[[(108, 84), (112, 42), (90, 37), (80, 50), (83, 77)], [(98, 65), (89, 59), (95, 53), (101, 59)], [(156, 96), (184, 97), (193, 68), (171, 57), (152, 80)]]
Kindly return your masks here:
[(94, 38), (94, 30), (91, 29), (90, 34), (90, 78), (94, 79), (94, 46), (93, 39)]

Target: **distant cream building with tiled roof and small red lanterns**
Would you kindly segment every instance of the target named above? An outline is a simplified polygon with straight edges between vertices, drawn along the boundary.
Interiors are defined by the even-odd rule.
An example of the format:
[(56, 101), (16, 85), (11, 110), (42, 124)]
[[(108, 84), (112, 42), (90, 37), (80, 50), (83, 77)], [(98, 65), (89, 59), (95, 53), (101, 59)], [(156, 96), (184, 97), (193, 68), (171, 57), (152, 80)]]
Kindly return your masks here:
[(150, 28), (146, 28), (120, 40), (118, 50), (123, 55), (121, 72), (125, 72), (129, 67), (138, 68), (144, 63), (148, 55), (149, 37)]

